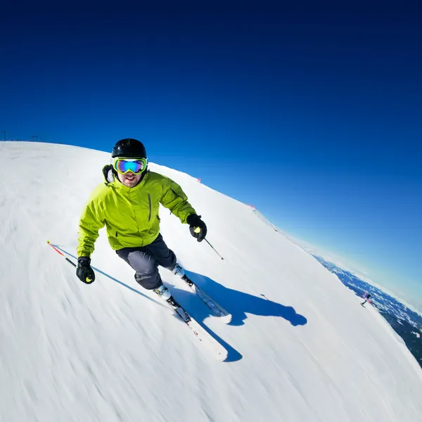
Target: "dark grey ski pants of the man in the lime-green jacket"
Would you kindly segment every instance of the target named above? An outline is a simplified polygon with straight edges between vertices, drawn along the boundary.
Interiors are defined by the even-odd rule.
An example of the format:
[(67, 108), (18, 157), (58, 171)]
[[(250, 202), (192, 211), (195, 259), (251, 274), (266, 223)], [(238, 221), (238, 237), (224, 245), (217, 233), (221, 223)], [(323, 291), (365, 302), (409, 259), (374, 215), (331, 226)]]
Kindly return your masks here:
[(162, 285), (158, 265), (170, 270), (176, 265), (176, 255), (167, 248), (161, 234), (149, 245), (123, 248), (116, 253), (135, 270), (135, 280), (147, 290)]

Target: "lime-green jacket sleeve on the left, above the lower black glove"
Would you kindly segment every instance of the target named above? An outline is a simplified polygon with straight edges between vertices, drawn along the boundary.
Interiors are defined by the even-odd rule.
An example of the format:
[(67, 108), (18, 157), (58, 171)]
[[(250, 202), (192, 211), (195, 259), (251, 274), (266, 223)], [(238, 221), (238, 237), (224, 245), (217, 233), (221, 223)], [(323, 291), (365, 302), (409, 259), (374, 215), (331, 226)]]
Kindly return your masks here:
[(102, 229), (105, 224), (95, 199), (89, 198), (79, 220), (78, 257), (91, 256), (91, 253), (94, 252), (94, 243), (98, 238), (98, 230)]

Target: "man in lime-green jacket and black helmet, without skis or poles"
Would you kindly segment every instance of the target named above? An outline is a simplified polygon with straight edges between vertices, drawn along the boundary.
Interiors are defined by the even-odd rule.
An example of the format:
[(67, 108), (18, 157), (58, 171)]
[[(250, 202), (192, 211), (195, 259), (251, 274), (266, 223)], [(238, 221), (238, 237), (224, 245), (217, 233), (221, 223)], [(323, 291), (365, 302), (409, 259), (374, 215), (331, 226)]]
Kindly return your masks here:
[(79, 222), (77, 277), (90, 284), (95, 280), (91, 253), (98, 230), (106, 226), (108, 241), (117, 255), (135, 270), (135, 280), (147, 290), (175, 305), (170, 290), (162, 283), (158, 266), (177, 276), (184, 269), (160, 234), (160, 204), (189, 224), (198, 242), (207, 226), (196, 214), (181, 187), (172, 179), (148, 170), (145, 147), (136, 139), (121, 139), (111, 154), (113, 165), (103, 167), (105, 183), (89, 197)]

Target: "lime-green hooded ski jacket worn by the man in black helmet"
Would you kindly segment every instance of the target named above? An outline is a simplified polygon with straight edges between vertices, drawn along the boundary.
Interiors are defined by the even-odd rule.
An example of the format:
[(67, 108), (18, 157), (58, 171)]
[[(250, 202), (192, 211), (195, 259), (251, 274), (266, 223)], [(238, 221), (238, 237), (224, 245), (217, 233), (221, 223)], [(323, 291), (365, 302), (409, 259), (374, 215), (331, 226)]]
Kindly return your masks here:
[(91, 256), (98, 230), (103, 226), (114, 250), (149, 245), (160, 231), (160, 204), (182, 223), (186, 223), (188, 215), (196, 214), (184, 191), (172, 179), (148, 170), (138, 185), (128, 188), (109, 170), (109, 166), (104, 167), (106, 182), (94, 189), (82, 212), (78, 257)]

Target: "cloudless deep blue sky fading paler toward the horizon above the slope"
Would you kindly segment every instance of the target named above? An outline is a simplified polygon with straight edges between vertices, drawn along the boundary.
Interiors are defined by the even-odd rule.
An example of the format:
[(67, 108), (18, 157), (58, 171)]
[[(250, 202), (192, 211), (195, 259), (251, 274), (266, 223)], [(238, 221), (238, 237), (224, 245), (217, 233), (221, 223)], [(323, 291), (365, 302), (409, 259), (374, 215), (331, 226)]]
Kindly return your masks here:
[(422, 304), (421, 4), (301, 5), (6, 10), (0, 130), (141, 139)]

